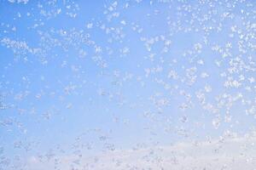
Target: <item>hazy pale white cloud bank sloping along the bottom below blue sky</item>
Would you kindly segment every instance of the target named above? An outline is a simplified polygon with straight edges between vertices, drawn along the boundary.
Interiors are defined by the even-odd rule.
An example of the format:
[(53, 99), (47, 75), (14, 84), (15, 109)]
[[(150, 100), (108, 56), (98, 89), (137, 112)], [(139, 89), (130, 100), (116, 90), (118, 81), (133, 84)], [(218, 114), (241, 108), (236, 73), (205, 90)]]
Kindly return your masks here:
[[(201, 169), (241, 170), (255, 169), (256, 137), (214, 139), (197, 143), (155, 145), (150, 148), (114, 150), (95, 156), (52, 156), (40, 162), (37, 156), (30, 157), (27, 168), (44, 169)], [(85, 156), (82, 156), (85, 155)]]

